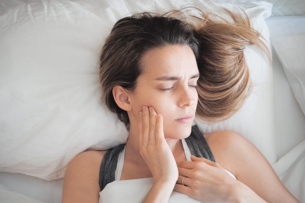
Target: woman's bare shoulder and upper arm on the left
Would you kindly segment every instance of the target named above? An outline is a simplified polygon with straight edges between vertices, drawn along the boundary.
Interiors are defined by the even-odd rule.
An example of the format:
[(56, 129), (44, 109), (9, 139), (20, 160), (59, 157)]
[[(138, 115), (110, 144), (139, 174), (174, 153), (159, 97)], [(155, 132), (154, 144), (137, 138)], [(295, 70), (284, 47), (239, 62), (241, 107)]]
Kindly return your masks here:
[(62, 202), (98, 202), (99, 170), (106, 151), (86, 151), (75, 156), (66, 169)]

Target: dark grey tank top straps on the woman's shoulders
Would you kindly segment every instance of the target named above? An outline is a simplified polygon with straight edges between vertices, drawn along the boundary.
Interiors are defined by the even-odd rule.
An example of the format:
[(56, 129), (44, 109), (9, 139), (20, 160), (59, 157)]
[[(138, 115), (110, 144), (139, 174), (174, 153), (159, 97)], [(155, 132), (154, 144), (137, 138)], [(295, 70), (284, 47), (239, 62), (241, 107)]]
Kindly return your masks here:
[[(188, 138), (185, 138), (185, 142), (187, 143), (193, 156), (203, 157), (215, 162), (210, 147), (197, 125), (192, 126), (191, 135), (188, 136)], [(117, 169), (119, 155), (124, 147), (125, 144), (122, 144), (108, 149), (105, 153), (99, 170), (99, 187), (101, 188), (101, 191), (108, 183), (115, 180), (115, 171)]]

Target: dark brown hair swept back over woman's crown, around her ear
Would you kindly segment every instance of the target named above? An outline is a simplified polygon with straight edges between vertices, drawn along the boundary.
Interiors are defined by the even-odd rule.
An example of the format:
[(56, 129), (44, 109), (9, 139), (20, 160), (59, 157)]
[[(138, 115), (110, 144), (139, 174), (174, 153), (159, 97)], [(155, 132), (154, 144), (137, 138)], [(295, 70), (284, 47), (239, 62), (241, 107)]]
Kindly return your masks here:
[(170, 44), (189, 46), (196, 59), (199, 42), (194, 36), (192, 26), (179, 19), (156, 13), (138, 13), (120, 19), (106, 38), (100, 56), (100, 82), (102, 100), (118, 119), (130, 128), (128, 114), (117, 106), (112, 94), (114, 86), (120, 85), (132, 92), (136, 79), (142, 74), (140, 60), (142, 55), (156, 47)]

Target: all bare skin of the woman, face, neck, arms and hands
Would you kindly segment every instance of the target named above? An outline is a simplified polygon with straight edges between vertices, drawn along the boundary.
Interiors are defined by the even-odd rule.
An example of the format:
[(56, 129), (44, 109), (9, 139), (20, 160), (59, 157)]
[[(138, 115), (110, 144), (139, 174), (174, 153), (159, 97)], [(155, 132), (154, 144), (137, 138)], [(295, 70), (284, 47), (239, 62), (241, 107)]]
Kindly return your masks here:
[[(203, 135), (216, 163), (194, 156), (191, 162), (186, 161), (181, 139), (190, 135), (192, 122), (176, 120), (185, 114), (195, 115), (197, 106), (198, 94), (193, 86), (198, 78), (192, 76), (198, 74), (198, 68), (189, 47), (169, 45), (149, 50), (141, 65), (143, 74), (137, 79), (135, 91), (129, 93), (115, 86), (113, 96), (131, 122), (120, 180), (153, 178), (143, 202), (167, 202), (172, 190), (204, 202), (299, 202), (264, 156), (234, 132)], [(155, 80), (162, 76), (181, 79)], [(63, 202), (99, 201), (99, 168), (105, 152), (83, 152), (69, 163)]]

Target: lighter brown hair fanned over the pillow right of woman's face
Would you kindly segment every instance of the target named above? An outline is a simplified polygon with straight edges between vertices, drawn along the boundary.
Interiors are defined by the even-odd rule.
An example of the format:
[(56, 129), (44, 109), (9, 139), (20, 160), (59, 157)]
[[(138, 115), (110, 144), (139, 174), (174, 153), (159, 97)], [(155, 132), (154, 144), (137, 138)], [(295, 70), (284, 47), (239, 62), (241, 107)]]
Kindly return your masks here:
[(231, 21), (203, 12), (200, 17), (192, 16), (200, 22), (196, 29), (200, 42), (196, 115), (205, 121), (231, 117), (251, 94), (253, 84), (243, 52), (247, 45), (257, 45), (271, 63), (264, 38), (251, 27), (246, 13), (222, 9)]

